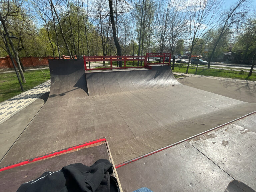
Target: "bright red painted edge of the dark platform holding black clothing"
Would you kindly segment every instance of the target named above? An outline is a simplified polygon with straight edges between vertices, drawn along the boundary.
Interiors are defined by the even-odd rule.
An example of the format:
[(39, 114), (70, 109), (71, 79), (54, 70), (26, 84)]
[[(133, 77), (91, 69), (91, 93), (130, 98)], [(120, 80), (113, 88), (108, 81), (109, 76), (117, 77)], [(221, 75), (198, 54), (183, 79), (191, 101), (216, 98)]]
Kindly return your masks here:
[(45, 159), (45, 158), (48, 158), (48, 157), (52, 157), (54, 155), (62, 154), (62, 153), (65, 153), (65, 152), (68, 152), (68, 151), (71, 151), (71, 150), (74, 150), (74, 149), (78, 149), (78, 148), (81, 148), (81, 147), (85, 147), (85, 146), (88, 146), (88, 145), (99, 143), (99, 142), (102, 142), (102, 141), (106, 141), (106, 138), (101, 138), (101, 139), (97, 139), (97, 140), (94, 140), (94, 141), (89, 141), (87, 143), (83, 143), (83, 144), (76, 145), (76, 146), (73, 146), (73, 147), (70, 147), (70, 148), (66, 148), (66, 149), (63, 149), (61, 151), (55, 151), (55, 152), (48, 153), (48, 154), (45, 154), (45, 155), (42, 155), (42, 156), (38, 156), (38, 157), (35, 157), (35, 158), (32, 158), (32, 159), (27, 159), (25, 161), (21, 161), (21, 162), (16, 163), (16, 164), (0, 168), (0, 172), (4, 171), (4, 170), (7, 170), (7, 169), (14, 168), (14, 167), (18, 167), (18, 166), (21, 166), (21, 165), (25, 165), (25, 164), (28, 164), (28, 163), (32, 163), (32, 162), (35, 162), (35, 161), (38, 161), (38, 160), (42, 160), (42, 159)]

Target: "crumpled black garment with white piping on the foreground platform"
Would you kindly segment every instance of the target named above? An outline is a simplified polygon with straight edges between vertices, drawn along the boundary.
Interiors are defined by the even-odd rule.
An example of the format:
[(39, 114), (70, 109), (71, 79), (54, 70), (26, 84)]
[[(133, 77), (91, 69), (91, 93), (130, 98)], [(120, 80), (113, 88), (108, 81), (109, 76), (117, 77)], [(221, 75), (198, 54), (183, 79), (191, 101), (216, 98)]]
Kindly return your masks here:
[(117, 188), (110, 190), (112, 173), (112, 164), (106, 159), (99, 159), (90, 167), (75, 163), (56, 172), (45, 172), (41, 177), (23, 183), (17, 192), (118, 191)]

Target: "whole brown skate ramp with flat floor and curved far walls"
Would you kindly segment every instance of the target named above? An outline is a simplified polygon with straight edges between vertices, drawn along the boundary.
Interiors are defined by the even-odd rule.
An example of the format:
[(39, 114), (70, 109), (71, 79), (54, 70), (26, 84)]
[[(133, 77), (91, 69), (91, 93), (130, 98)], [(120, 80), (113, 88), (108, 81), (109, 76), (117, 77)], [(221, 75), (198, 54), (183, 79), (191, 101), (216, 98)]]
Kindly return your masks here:
[(49, 66), (50, 96), (1, 167), (102, 137), (119, 164), (256, 109), (176, 83), (161, 66), (92, 73), (82, 59), (49, 60)]

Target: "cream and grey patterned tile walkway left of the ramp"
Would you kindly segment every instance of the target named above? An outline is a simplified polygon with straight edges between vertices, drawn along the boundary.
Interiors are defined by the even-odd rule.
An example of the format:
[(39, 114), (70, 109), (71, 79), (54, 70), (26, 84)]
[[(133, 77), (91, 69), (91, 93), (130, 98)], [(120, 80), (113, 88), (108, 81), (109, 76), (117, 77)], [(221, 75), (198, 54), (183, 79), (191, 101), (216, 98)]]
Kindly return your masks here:
[(16, 114), (21, 109), (35, 101), (44, 93), (50, 91), (50, 80), (25, 91), (11, 99), (0, 103), (0, 124)]

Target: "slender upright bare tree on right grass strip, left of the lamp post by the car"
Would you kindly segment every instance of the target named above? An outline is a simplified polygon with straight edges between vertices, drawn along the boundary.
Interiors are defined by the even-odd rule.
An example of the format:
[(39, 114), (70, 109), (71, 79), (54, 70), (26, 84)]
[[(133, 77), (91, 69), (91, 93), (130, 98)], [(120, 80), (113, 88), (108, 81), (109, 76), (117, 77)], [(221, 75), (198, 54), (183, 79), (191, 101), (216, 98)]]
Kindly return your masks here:
[(187, 6), (188, 29), (191, 50), (186, 73), (188, 73), (191, 54), (196, 43), (205, 35), (210, 27), (216, 24), (215, 16), (219, 14), (222, 0), (191, 0)]

